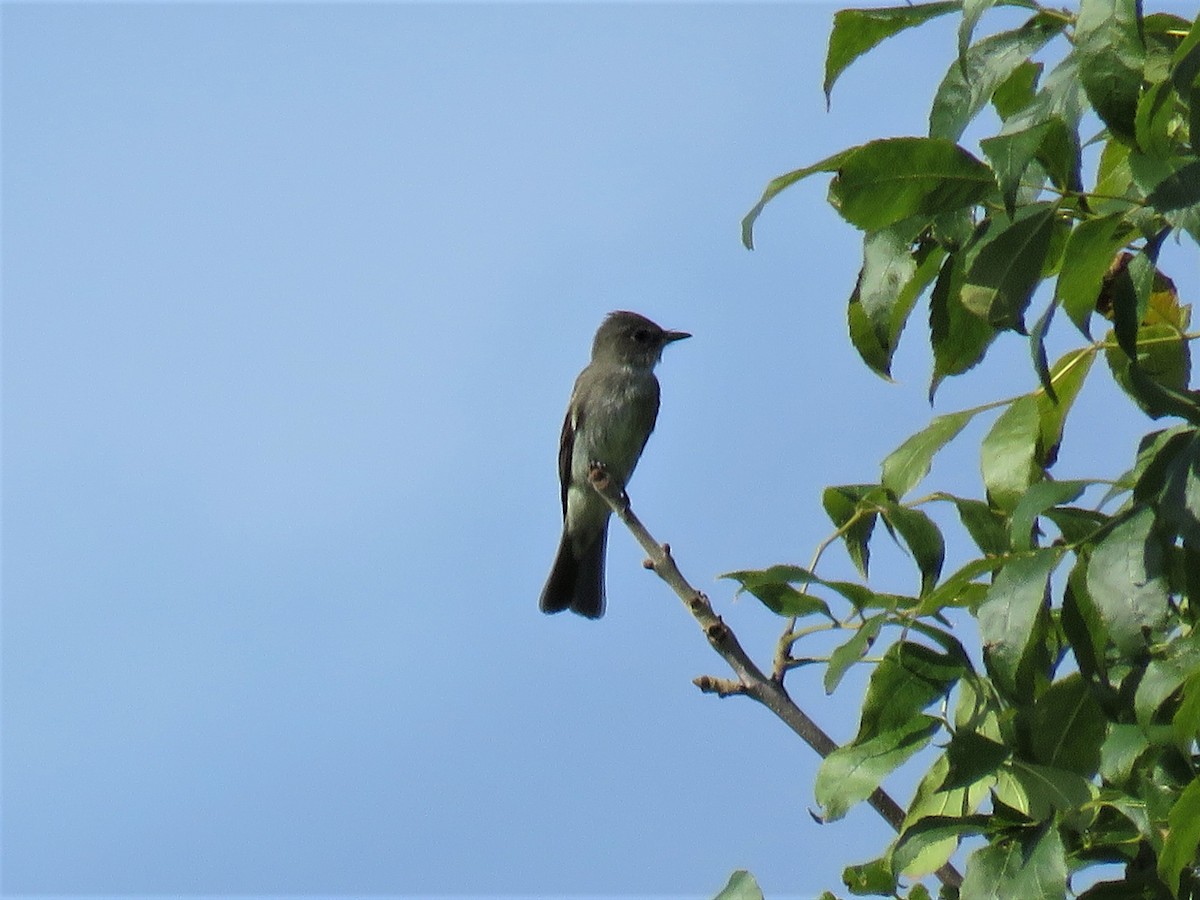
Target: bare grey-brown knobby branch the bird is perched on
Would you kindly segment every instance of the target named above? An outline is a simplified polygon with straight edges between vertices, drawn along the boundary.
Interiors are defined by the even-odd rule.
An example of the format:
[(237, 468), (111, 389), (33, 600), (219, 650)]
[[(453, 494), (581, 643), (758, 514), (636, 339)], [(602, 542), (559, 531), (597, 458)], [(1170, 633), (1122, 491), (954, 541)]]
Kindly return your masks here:
[[(652, 569), (667, 586), (674, 590), (676, 595), (683, 600), (688, 612), (700, 625), (708, 638), (708, 643), (728, 664), (737, 676), (736, 679), (715, 678), (701, 676), (695, 679), (695, 685), (706, 694), (716, 694), (720, 697), (744, 694), (762, 703), (782, 722), (794, 731), (809, 746), (817, 751), (822, 758), (829, 756), (838, 749), (838, 744), (826, 732), (812, 721), (808, 714), (792, 701), (785, 690), (780, 677), (768, 677), (755, 664), (750, 655), (742, 647), (737, 635), (725, 624), (720, 616), (713, 611), (708, 596), (697, 590), (684, 578), (679, 566), (676, 565), (671, 554), (671, 546), (659, 544), (642, 524), (642, 521), (634, 515), (629, 503), (629, 494), (617, 484), (616, 479), (608, 476), (602, 466), (593, 466), (588, 479), (607, 504), (612, 508), (617, 517), (625, 523), (630, 533), (646, 551), (647, 569)], [(781, 674), (781, 673), (780, 673)], [(904, 824), (904, 809), (900, 804), (882, 788), (877, 787), (866, 798), (871, 808), (878, 812), (883, 821), (892, 826), (898, 833)], [(958, 888), (962, 884), (962, 875), (950, 863), (937, 870), (938, 880), (947, 887)]]

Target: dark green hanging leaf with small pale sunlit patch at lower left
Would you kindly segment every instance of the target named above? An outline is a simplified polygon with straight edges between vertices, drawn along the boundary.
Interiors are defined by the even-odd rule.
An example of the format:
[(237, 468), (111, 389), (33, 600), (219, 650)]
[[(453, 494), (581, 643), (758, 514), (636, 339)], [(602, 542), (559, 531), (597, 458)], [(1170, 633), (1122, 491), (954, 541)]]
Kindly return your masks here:
[(998, 329), (1024, 334), (1025, 310), (1042, 280), (1057, 204), (1021, 209), (1008, 226), (992, 223), (967, 269), (962, 305)]

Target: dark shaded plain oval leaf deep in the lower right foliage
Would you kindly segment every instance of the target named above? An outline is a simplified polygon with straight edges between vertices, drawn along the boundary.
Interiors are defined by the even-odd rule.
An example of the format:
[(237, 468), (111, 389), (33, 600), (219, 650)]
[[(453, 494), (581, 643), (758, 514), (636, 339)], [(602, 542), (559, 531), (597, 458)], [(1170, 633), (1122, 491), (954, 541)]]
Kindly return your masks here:
[(1055, 682), (1038, 697), (1032, 731), (1038, 762), (1084, 778), (1099, 769), (1105, 716), (1078, 672)]

